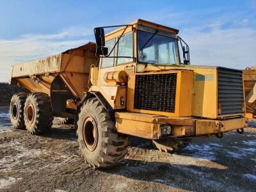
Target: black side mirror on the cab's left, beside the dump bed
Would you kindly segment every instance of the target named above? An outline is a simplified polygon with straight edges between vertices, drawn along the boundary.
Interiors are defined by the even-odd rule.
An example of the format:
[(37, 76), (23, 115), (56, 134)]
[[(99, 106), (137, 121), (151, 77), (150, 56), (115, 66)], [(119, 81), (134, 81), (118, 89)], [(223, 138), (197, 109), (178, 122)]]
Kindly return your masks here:
[(94, 35), (96, 40), (96, 54), (97, 55), (108, 55), (108, 47), (105, 46), (105, 33), (103, 28), (95, 28)]

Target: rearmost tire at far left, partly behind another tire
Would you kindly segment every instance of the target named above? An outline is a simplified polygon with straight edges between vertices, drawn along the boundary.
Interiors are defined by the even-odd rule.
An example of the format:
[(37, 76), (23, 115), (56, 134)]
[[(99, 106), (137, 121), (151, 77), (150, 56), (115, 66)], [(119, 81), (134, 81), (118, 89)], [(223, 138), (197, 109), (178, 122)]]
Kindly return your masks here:
[(24, 105), (28, 93), (15, 93), (10, 102), (10, 120), (14, 129), (26, 129), (24, 122)]

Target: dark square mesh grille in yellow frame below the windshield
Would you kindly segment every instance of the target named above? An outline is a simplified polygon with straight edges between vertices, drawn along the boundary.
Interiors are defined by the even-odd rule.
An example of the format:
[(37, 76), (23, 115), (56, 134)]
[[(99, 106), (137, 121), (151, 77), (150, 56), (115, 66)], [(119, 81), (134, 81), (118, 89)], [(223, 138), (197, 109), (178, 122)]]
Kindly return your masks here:
[(177, 74), (137, 75), (134, 109), (174, 113)]

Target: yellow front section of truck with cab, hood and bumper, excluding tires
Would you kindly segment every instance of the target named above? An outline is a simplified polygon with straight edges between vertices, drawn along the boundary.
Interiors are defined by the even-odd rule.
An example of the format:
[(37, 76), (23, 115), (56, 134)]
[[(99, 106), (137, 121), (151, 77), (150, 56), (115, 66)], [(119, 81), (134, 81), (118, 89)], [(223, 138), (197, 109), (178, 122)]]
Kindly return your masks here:
[[(116, 119), (134, 125), (134, 136), (145, 138), (147, 131), (150, 139), (163, 136), (160, 128), (155, 134), (148, 127), (136, 127), (134, 116), (156, 120), (161, 115), (157, 118), (164, 118), (172, 127), (170, 136), (179, 137), (221, 137), (225, 131), (246, 127), (243, 72), (190, 65), (189, 47), (178, 33), (177, 29), (140, 19), (108, 33), (104, 47), (109, 52), (99, 55), (99, 66), (92, 69), (93, 77), (99, 75), (92, 79), (95, 84), (91, 91), (100, 91), (109, 98), (109, 104), (117, 111)], [(126, 72), (125, 83), (114, 78), (118, 72), (123, 76)], [(110, 91), (114, 89), (115, 99)], [(118, 112), (119, 109), (126, 111)], [(127, 124), (117, 121), (116, 127), (119, 132), (131, 134)]]

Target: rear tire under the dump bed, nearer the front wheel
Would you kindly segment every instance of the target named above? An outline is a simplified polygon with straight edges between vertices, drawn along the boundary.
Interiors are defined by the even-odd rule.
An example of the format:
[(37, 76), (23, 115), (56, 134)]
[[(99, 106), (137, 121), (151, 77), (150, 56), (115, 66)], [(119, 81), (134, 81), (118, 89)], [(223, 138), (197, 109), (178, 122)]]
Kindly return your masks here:
[(31, 93), (26, 99), (24, 122), (30, 134), (51, 131), (53, 113), (50, 97), (45, 93)]

